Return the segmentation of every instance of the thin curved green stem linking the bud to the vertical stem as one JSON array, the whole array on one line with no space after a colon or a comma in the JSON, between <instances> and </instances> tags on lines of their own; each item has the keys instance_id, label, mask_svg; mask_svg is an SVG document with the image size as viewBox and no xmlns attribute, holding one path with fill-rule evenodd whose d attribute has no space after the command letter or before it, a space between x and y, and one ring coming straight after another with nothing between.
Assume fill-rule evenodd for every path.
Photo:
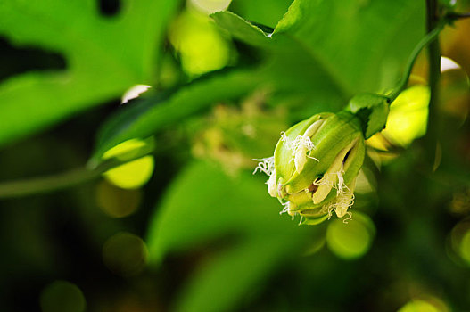
<instances>
[{"instance_id":1,"label":"thin curved green stem linking the bud to the vertical stem","mask_svg":"<svg viewBox=\"0 0 470 312\"><path fill-rule=\"evenodd\" d=\"M433 29L427 29L428 34L423 39L421 39L421 41L415 46L415 49L413 49L413 52L411 52L411 54L409 55L407 65L405 67L405 73L401 77L397 86L394 88L392 94L388 96L390 99L390 103L395 101L395 99L400 95L400 93L407 87L409 76L411 75L411 70L413 70L413 65L415 64L416 58L421 52L421 50L423 50L426 45L430 45L433 43L434 40L437 40L437 38L439 37L439 33L447 23L448 20L444 19L434 25Z\"/></svg>"}]
</instances>

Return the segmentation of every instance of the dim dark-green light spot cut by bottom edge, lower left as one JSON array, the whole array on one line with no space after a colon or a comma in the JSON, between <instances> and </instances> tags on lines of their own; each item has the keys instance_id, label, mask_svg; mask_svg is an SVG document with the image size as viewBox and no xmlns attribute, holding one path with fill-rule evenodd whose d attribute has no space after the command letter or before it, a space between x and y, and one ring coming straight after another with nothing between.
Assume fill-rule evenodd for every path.
<instances>
[{"instance_id":1,"label":"dim dark-green light spot cut by bottom edge, lower left","mask_svg":"<svg viewBox=\"0 0 470 312\"><path fill-rule=\"evenodd\" d=\"M43 312L82 312L87 306L82 291L67 281L47 285L41 292L39 302Z\"/></svg>"}]
</instances>

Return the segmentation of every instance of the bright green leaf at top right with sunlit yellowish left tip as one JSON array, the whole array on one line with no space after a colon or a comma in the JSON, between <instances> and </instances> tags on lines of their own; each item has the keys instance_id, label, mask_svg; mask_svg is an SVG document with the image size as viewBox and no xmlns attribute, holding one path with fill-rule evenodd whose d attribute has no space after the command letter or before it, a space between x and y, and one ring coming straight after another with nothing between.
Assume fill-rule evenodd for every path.
<instances>
[{"instance_id":1,"label":"bright green leaf at top right with sunlit yellowish left tip","mask_svg":"<svg viewBox=\"0 0 470 312\"><path fill-rule=\"evenodd\" d=\"M295 0L272 38L301 42L350 94L377 92L423 36L424 12L423 1Z\"/></svg>"}]
</instances>

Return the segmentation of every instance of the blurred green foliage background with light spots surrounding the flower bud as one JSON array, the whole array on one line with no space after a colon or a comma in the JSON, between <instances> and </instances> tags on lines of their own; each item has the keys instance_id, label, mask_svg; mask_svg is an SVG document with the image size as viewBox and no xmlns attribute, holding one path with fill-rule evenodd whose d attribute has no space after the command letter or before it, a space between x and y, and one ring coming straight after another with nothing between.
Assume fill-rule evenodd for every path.
<instances>
[{"instance_id":1,"label":"blurred green foliage background with light spots surrounding the flower bud","mask_svg":"<svg viewBox=\"0 0 470 312\"><path fill-rule=\"evenodd\" d=\"M425 1L3 0L0 309L470 310L469 33L441 34L427 127L418 59L367 142L349 224L298 226L252 159L390 91Z\"/></svg>"}]
</instances>

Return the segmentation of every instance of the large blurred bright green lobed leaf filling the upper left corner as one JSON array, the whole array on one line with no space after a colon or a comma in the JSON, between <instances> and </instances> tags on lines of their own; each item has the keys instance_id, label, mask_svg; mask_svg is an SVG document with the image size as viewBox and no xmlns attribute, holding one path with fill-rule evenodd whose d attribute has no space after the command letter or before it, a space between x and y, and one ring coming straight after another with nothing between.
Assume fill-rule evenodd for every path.
<instances>
[{"instance_id":1,"label":"large blurred bright green lobed leaf filling the upper left corner","mask_svg":"<svg viewBox=\"0 0 470 312\"><path fill-rule=\"evenodd\" d=\"M153 81L159 45L178 4L123 1L118 16L103 18L95 1L2 1L0 35L14 45L62 53L68 69L0 85L0 145Z\"/></svg>"}]
</instances>

